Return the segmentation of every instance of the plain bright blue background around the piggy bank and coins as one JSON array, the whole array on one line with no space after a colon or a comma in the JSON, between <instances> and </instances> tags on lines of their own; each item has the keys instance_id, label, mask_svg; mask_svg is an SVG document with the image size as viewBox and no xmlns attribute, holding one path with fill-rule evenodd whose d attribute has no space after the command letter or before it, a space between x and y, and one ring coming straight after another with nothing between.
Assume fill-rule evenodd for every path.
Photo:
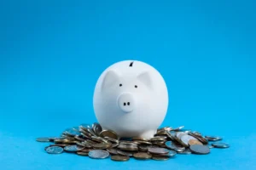
<instances>
[{"instance_id":1,"label":"plain bright blue background around the piggy bank and coins","mask_svg":"<svg viewBox=\"0 0 256 170\"><path fill-rule=\"evenodd\" d=\"M256 169L253 1L1 1L1 169ZM137 59L166 80L162 126L220 135L230 149L169 161L50 156L37 137L96 122L109 65Z\"/></svg>"}]
</instances>

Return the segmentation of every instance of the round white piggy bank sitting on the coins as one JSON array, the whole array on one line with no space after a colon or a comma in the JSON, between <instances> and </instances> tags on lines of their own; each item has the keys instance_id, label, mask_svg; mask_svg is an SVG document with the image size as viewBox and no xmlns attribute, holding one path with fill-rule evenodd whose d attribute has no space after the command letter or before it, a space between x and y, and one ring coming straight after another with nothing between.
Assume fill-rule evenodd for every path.
<instances>
[{"instance_id":1,"label":"round white piggy bank sitting on the coins","mask_svg":"<svg viewBox=\"0 0 256 170\"><path fill-rule=\"evenodd\" d=\"M166 116L166 82L151 65L120 61L98 78L93 107L102 129L123 138L151 139Z\"/></svg>"}]
</instances>

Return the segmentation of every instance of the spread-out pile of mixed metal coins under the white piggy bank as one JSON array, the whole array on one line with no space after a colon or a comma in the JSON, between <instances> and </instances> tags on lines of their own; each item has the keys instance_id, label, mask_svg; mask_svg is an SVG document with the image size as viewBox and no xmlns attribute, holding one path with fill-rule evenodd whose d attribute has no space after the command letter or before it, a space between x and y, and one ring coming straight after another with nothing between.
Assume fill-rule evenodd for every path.
<instances>
[{"instance_id":1,"label":"spread-out pile of mixed metal coins under the white piggy bank","mask_svg":"<svg viewBox=\"0 0 256 170\"><path fill-rule=\"evenodd\" d=\"M219 136L203 136L182 127L162 127L152 139L122 139L111 130L102 130L99 123L81 124L67 128L60 137L38 138L38 142L51 142L45 147L49 154L76 153L93 159L111 157L113 161L169 160L177 154L209 154L212 148L229 148L219 142ZM212 142L212 144L210 144Z\"/></svg>"}]
</instances>

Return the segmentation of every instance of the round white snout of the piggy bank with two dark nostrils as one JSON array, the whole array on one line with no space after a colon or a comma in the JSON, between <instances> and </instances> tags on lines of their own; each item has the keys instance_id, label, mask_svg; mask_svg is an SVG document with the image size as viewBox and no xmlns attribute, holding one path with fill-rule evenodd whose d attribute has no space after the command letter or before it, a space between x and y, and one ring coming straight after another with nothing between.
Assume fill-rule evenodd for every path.
<instances>
[{"instance_id":1,"label":"round white snout of the piggy bank with two dark nostrils","mask_svg":"<svg viewBox=\"0 0 256 170\"><path fill-rule=\"evenodd\" d=\"M133 95L130 93L120 94L118 98L118 105L119 109L125 113L133 111L135 108L135 100Z\"/></svg>"}]
</instances>

